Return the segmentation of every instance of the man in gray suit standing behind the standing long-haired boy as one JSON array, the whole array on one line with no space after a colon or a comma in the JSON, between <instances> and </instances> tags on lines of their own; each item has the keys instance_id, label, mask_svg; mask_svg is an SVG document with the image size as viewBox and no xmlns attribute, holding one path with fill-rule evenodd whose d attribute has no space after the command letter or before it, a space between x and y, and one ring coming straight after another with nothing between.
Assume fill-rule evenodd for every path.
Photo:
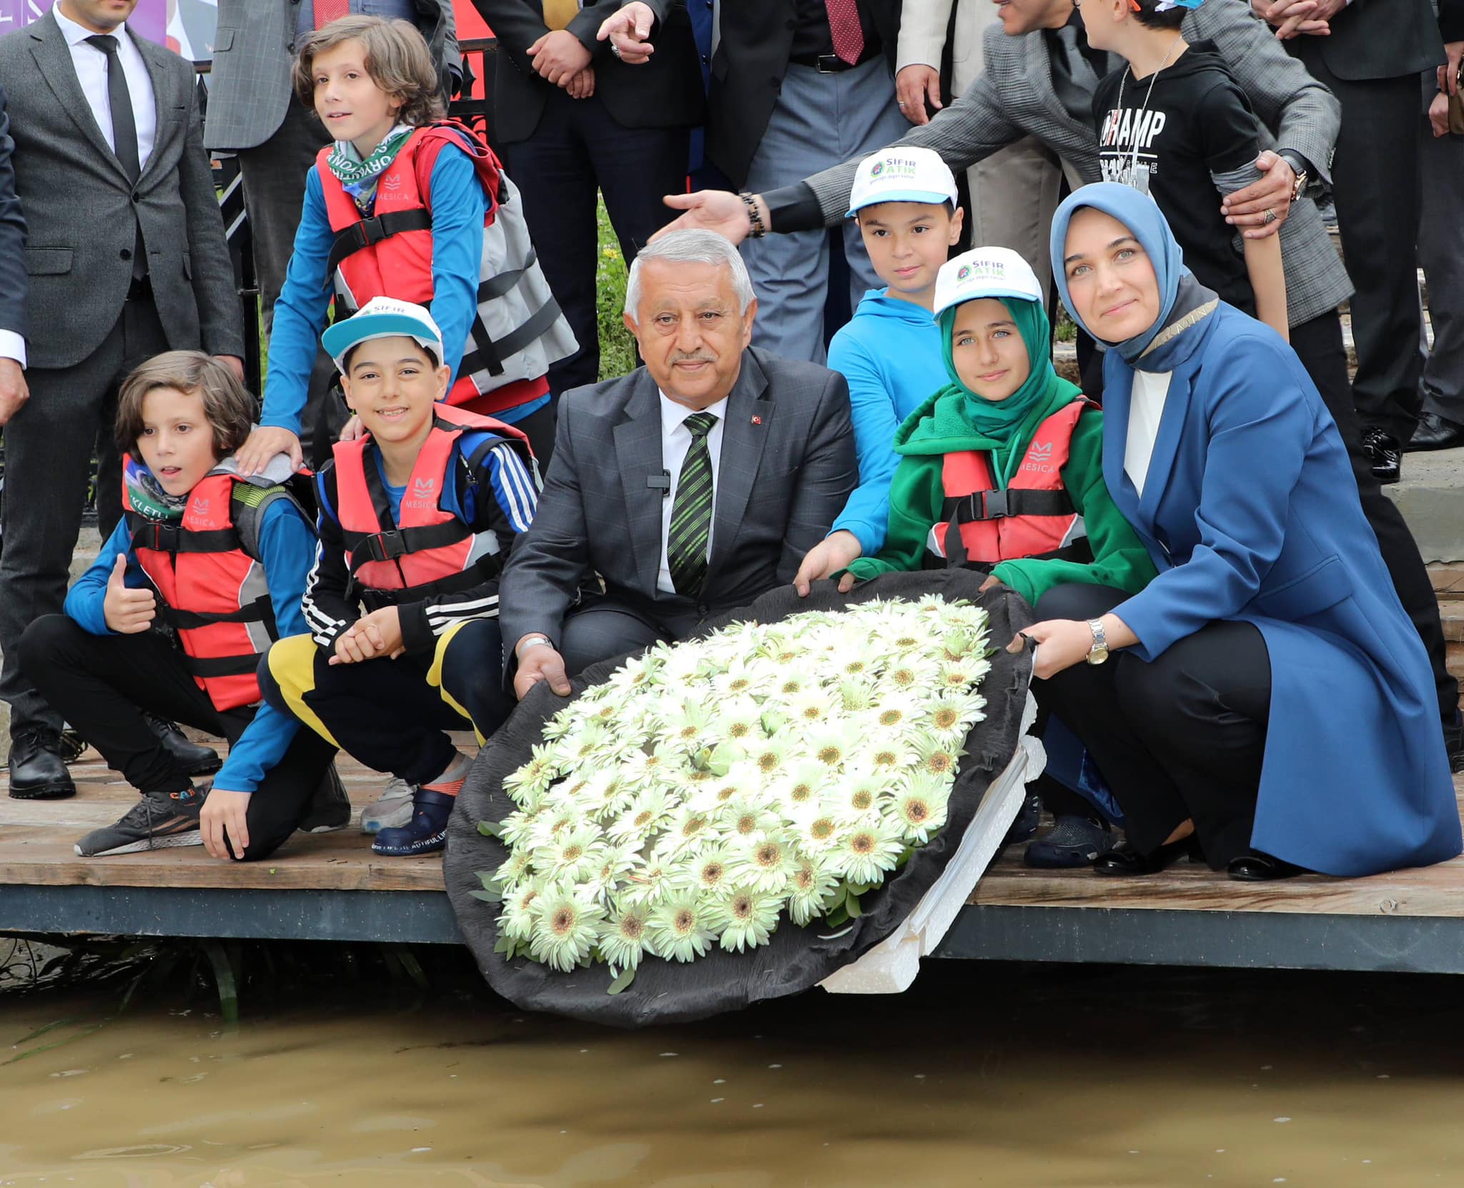
<instances>
[{"instance_id":1,"label":"man in gray suit standing behind the standing long-haired boy","mask_svg":"<svg viewBox=\"0 0 1464 1188\"><path fill-rule=\"evenodd\" d=\"M300 224L305 176L331 139L315 113L294 101L294 42L318 18L326 23L346 12L410 20L432 51L442 97L461 80L452 0L218 0L203 143L239 154L265 331Z\"/></svg>"}]
</instances>

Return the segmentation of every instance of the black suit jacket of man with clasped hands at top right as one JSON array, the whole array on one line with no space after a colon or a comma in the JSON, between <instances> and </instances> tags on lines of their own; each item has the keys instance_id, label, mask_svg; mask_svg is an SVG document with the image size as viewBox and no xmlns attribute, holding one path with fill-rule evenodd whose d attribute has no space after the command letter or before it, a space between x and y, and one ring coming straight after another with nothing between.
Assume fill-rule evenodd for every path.
<instances>
[{"instance_id":1,"label":"black suit jacket of man with clasped hands at top right","mask_svg":"<svg viewBox=\"0 0 1464 1188\"><path fill-rule=\"evenodd\" d=\"M1397 79L1444 63L1429 0L1353 0L1331 19L1328 37L1287 42L1301 61L1316 54L1340 79Z\"/></svg>"}]
</instances>

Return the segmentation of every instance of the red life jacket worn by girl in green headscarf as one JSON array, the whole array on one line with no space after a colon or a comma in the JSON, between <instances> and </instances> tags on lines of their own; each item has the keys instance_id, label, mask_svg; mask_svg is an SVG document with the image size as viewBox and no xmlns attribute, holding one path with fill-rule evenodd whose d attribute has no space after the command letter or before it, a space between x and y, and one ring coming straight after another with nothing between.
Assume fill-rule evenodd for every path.
<instances>
[{"instance_id":1,"label":"red life jacket worn by girl in green headscarf","mask_svg":"<svg viewBox=\"0 0 1464 1188\"><path fill-rule=\"evenodd\" d=\"M931 525L925 540L927 568L991 566L1019 557L1091 562L1083 518L1061 475L1073 429L1089 407L1095 405L1075 399L1044 420L1006 490L994 490L987 451L947 454L941 467L943 522ZM953 528L957 544L947 549Z\"/></svg>"}]
</instances>

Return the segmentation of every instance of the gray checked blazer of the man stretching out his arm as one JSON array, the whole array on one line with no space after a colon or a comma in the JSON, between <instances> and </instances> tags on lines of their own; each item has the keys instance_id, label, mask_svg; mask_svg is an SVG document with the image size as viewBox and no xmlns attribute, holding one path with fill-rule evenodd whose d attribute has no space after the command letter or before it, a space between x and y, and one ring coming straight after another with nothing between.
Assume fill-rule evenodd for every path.
<instances>
[{"instance_id":1,"label":"gray checked blazer of the man stretching out his arm","mask_svg":"<svg viewBox=\"0 0 1464 1188\"><path fill-rule=\"evenodd\" d=\"M1262 145L1301 154L1312 164L1313 178L1328 184L1341 107L1287 54L1250 6L1244 0L1209 0L1186 15L1183 32L1186 41L1215 42L1261 120ZM963 170L1023 136L1035 136L1083 181L1098 181L1098 132L1091 120L1072 119L1053 91L1047 40L1039 32L1007 37L993 26L982 51L985 70L971 89L899 143L935 149L952 170ZM1123 64L1117 57L1113 61ZM846 161L808 178L830 227L849 209L858 164ZM1218 199L1215 209L1218 218ZM1291 325L1337 309L1351 294L1347 271L1310 199L1299 202L1282 224L1281 252Z\"/></svg>"}]
</instances>

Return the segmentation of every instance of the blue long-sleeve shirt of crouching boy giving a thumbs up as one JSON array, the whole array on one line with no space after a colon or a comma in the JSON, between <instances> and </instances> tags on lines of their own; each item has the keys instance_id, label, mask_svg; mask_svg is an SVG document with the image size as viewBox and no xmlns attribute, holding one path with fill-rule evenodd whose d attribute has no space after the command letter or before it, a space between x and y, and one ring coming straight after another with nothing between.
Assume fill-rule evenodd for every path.
<instances>
[{"instance_id":1,"label":"blue long-sleeve shirt of crouching boy giving a thumbs up","mask_svg":"<svg viewBox=\"0 0 1464 1188\"><path fill-rule=\"evenodd\" d=\"M107 579L119 553L127 557L126 585L132 590L152 588L132 552L132 537L123 521L108 537L97 560L76 579L66 595L66 613L92 635L114 634L107 626L102 603L107 597ZM269 587L269 603L274 607L280 636L305 635L310 628L300 610L300 600L305 595L306 576L315 563L315 533L287 499L277 499L265 508L259 521L259 559L265 568L265 584ZM284 758L299 729L300 724L288 714L281 714L268 702L261 704L253 721L228 749L223 770L214 777L214 787L224 792L258 789L265 772Z\"/></svg>"}]
</instances>

